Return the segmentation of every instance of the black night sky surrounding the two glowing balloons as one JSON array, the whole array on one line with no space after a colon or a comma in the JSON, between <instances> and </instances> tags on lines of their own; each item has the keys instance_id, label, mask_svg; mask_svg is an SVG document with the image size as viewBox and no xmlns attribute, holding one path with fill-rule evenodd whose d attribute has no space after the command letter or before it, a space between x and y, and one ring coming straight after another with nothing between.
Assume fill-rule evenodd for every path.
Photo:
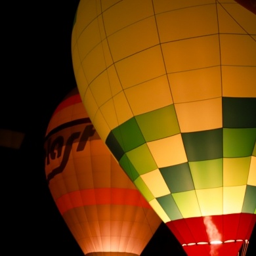
<instances>
[{"instance_id":1,"label":"black night sky surrounding the two glowing balloons","mask_svg":"<svg viewBox=\"0 0 256 256\"><path fill-rule=\"evenodd\" d=\"M0 255L82 256L45 179L43 142L51 115L75 85L71 33L79 0L5 1L1 30L0 129L24 133L0 146ZM247 256L256 248L255 230ZM141 256L186 255L161 224Z\"/></svg>"}]
</instances>

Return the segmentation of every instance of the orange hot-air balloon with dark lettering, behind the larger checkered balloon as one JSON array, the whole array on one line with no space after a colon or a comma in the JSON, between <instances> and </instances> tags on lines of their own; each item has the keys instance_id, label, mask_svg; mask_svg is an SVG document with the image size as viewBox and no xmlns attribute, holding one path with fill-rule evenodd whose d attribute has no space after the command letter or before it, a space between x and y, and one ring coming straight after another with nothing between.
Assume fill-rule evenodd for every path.
<instances>
[{"instance_id":1,"label":"orange hot-air balloon with dark lettering, behind the larger checkered balloon","mask_svg":"<svg viewBox=\"0 0 256 256\"><path fill-rule=\"evenodd\" d=\"M45 152L49 189L83 253L140 255L161 219L98 137L76 88L51 117Z\"/></svg>"}]
</instances>

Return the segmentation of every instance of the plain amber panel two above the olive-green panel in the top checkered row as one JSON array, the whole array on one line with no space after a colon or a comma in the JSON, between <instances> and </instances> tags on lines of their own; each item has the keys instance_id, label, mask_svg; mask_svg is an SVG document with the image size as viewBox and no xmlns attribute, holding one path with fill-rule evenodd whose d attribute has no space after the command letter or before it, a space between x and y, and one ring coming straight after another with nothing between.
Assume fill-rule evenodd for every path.
<instances>
[{"instance_id":1,"label":"plain amber panel two above the olive-green panel in the top checkered row","mask_svg":"<svg viewBox=\"0 0 256 256\"><path fill-rule=\"evenodd\" d=\"M117 62L116 70L123 89L164 75L161 47L157 45Z\"/></svg>"}]
</instances>

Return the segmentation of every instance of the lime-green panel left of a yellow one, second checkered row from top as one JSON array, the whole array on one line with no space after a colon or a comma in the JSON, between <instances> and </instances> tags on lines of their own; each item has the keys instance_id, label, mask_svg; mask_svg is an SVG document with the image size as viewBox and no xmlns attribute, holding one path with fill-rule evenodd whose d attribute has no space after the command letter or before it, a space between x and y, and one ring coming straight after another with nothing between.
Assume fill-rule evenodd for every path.
<instances>
[{"instance_id":1,"label":"lime-green panel left of a yellow one, second checkered row from top","mask_svg":"<svg viewBox=\"0 0 256 256\"><path fill-rule=\"evenodd\" d=\"M139 175L158 169L147 144L143 144L142 146L127 152L127 158L133 163L133 166Z\"/></svg>"}]
</instances>

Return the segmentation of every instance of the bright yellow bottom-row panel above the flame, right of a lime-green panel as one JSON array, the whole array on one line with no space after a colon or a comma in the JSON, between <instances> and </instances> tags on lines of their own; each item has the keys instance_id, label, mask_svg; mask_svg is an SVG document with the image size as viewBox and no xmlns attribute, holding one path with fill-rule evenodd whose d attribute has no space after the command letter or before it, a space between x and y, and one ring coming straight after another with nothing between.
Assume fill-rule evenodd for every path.
<instances>
[{"instance_id":1,"label":"bright yellow bottom-row panel above the flame, right of a lime-green panel","mask_svg":"<svg viewBox=\"0 0 256 256\"><path fill-rule=\"evenodd\" d=\"M223 188L196 190L202 216L223 215Z\"/></svg>"}]
</instances>

